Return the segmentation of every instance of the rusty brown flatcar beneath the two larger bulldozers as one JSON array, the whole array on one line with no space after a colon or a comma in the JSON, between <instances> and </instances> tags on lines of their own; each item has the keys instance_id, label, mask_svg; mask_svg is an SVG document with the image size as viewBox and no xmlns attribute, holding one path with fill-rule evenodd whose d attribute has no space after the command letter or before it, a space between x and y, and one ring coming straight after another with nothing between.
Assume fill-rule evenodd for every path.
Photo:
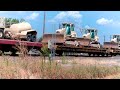
<instances>
[{"instance_id":1,"label":"rusty brown flatcar beneath the two larger bulldozers","mask_svg":"<svg viewBox=\"0 0 120 90\"><path fill-rule=\"evenodd\" d=\"M56 53L62 55L63 53L87 53L89 56L112 56L113 50L105 48L94 48L94 47L76 47L76 46L63 46L59 45L56 48ZM76 55L76 54L75 54Z\"/></svg>"}]
</instances>

